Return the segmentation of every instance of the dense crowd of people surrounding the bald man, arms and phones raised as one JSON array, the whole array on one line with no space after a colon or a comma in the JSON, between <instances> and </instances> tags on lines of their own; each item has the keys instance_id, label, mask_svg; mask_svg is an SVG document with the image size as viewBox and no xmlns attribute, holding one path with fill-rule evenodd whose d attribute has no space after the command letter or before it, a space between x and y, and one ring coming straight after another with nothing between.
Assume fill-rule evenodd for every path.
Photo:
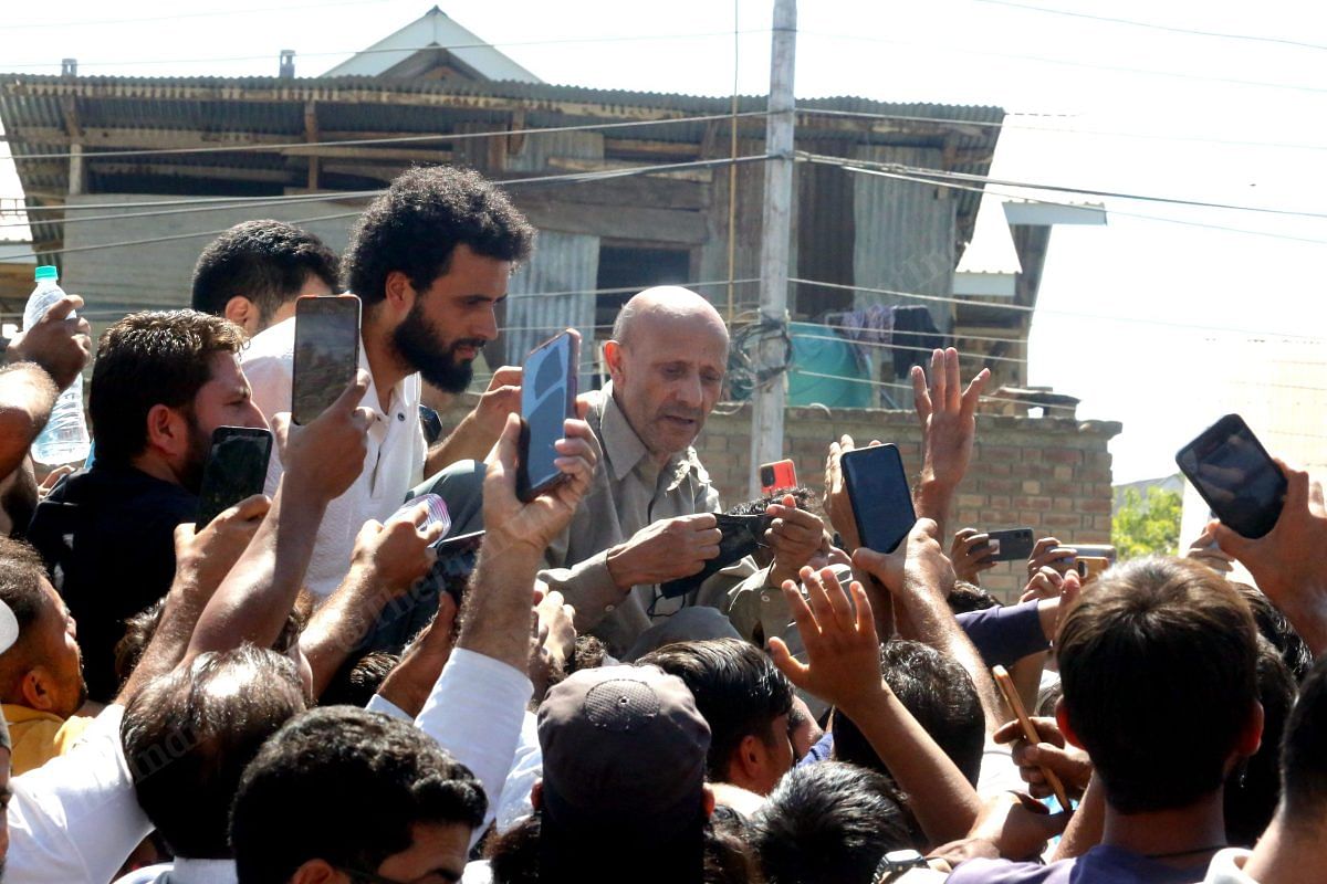
<instances>
[{"instance_id":1,"label":"dense crowd of people surrounding the bald man, arms and phones raised","mask_svg":"<svg viewBox=\"0 0 1327 884\"><path fill-rule=\"evenodd\" d=\"M951 524L989 372L965 384L951 349L912 368L918 518L872 550L847 436L823 493L721 502L693 444L729 330L670 286L621 309L563 481L525 501L519 368L450 432L426 403L471 384L533 248L498 187L418 168L340 258L249 221L202 253L192 309L127 315L93 354L68 296L8 342L5 881L1327 880L1307 474L1283 467L1262 538L1214 522L1091 582L1072 538L1040 538L1001 604L983 535ZM296 425L295 304L337 292L362 306L358 371ZM33 464L89 362L94 463ZM202 525L218 427L276 449L267 493ZM426 492L449 529L401 512ZM707 569L726 506L770 527ZM431 577L445 530L484 531L462 591Z\"/></svg>"}]
</instances>

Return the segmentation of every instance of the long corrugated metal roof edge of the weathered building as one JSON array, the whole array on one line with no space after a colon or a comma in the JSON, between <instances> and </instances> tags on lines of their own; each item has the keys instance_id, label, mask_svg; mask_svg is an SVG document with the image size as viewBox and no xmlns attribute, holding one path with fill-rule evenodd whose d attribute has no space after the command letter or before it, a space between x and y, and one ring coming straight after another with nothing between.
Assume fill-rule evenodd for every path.
<instances>
[{"instance_id":1,"label":"long corrugated metal roof edge of the weathered building","mask_svg":"<svg viewBox=\"0 0 1327 884\"><path fill-rule=\"evenodd\" d=\"M322 133L341 137L354 133L435 134L467 123L474 130L506 129L511 113L520 110L525 127L553 127L634 118L722 115L731 111L731 98L670 93L591 89L516 81L453 82L387 80L373 77L60 77L0 74L0 122L17 154L61 154L62 146L24 139L31 129L65 130L62 101L73 98L85 130L139 129L184 130L232 135L245 134L304 138L304 109L317 102ZM742 95L738 110L762 111L764 95ZM867 98L833 97L799 102L800 110L833 110L877 114L898 121L805 114L799 133L824 142L849 144L943 147L951 168L985 175L995 151L1005 111L989 106L889 103ZM936 121L936 122L928 122ZM955 122L957 121L957 122ZM746 137L759 137L763 121L743 122ZM885 129L888 131L880 131ZM642 139L699 144L706 123L677 123L609 130L613 139ZM125 144L106 143L106 148ZM92 155L96 147L88 148ZM845 144L845 151L851 148ZM154 163L169 166L215 166L232 168L280 168L273 155L255 154L163 155ZM68 160L20 162L19 175L28 193L62 193L68 190ZM978 193L958 197L958 237L971 236ZM40 224L38 241L58 239L58 224Z\"/></svg>"}]
</instances>

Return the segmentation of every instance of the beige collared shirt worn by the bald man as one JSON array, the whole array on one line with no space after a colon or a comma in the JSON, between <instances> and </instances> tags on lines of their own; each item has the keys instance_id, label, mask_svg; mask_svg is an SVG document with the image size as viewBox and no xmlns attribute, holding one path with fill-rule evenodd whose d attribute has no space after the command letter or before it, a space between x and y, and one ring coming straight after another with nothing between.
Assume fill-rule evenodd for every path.
<instances>
[{"instance_id":1,"label":"beige collared shirt worn by the bald man","mask_svg":"<svg viewBox=\"0 0 1327 884\"><path fill-rule=\"evenodd\" d=\"M612 383L598 391L588 421L604 459L572 524L548 549L549 567L539 577L576 606L576 627L598 636L616 656L652 623L695 604L698 595L711 595L710 582L723 575L686 598L665 599L657 584L624 592L608 573L608 551L652 522L719 512L719 493L694 448L674 455L662 469L654 463L613 400Z\"/></svg>"}]
</instances>

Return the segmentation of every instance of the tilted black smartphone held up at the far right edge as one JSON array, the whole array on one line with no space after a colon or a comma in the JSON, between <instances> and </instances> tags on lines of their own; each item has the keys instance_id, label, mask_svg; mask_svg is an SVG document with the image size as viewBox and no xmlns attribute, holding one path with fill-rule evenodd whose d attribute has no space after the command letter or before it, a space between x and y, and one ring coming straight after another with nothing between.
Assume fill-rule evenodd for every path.
<instances>
[{"instance_id":1,"label":"tilted black smartphone held up at the far right edge","mask_svg":"<svg viewBox=\"0 0 1327 884\"><path fill-rule=\"evenodd\" d=\"M1239 415L1226 415L1174 456L1222 524L1262 537L1281 518L1286 474Z\"/></svg>"}]
</instances>

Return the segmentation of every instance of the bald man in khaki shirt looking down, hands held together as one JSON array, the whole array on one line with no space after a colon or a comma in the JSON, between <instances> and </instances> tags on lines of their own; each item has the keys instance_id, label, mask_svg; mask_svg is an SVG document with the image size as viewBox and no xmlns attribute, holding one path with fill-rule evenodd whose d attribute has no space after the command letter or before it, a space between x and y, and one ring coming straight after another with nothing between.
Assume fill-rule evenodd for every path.
<instances>
[{"instance_id":1,"label":"bald man in khaki shirt looking down, hands held together","mask_svg":"<svg viewBox=\"0 0 1327 884\"><path fill-rule=\"evenodd\" d=\"M718 311L675 286L633 297L605 346L612 382L592 394L587 417L604 457L540 578L576 607L577 630L602 639L614 655L683 606L727 612L736 584L776 586L820 550L820 520L780 506L768 569L747 559L686 596L665 599L658 591L660 583L699 573L719 553L719 496L691 443L723 390L727 353Z\"/></svg>"}]
</instances>

